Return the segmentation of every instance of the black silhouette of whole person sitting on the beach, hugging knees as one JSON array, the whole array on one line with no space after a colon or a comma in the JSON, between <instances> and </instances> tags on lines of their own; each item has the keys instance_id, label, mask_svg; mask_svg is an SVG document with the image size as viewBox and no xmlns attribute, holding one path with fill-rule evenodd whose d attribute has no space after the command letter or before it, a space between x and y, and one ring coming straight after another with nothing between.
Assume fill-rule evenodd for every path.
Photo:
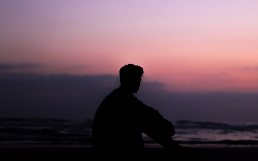
<instances>
[{"instance_id":1,"label":"black silhouette of whole person sitting on the beach, hugging knees","mask_svg":"<svg viewBox=\"0 0 258 161\"><path fill-rule=\"evenodd\" d=\"M143 154L142 132L166 149L182 147L171 138L173 124L132 94L138 91L143 73L133 64L120 69L120 87L102 101L93 120L92 149L96 155Z\"/></svg>"}]
</instances>

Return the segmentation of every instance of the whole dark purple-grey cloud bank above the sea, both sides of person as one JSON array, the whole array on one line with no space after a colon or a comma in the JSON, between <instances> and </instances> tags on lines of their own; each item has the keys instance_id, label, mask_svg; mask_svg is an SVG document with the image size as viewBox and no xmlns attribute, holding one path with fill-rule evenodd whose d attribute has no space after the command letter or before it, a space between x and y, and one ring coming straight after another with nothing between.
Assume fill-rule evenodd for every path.
<instances>
[{"instance_id":1,"label":"whole dark purple-grey cloud bank above the sea, both sides of person","mask_svg":"<svg viewBox=\"0 0 258 161\"><path fill-rule=\"evenodd\" d=\"M0 117L92 119L119 85L118 75L0 73ZM170 92L143 81L134 95L170 121L258 121L258 93Z\"/></svg>"}]
</instances>

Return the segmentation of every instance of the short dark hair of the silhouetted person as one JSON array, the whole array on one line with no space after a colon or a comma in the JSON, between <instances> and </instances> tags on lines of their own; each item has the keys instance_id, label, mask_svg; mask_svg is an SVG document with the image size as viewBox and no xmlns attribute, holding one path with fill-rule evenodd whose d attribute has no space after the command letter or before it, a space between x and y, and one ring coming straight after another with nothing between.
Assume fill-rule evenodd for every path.
<instances>
[{"instance_id":1,"label":"short dark hair of the silhouetted person","mask_svg":"<svg viewBox=\"0 0 258 161\"><path fill-rule=\"evenodd\" d=\"M134 64L127 64L119 70L120 82L138 75L142 76L143 73L142 67Z\"/></svg>"}]
</instances>

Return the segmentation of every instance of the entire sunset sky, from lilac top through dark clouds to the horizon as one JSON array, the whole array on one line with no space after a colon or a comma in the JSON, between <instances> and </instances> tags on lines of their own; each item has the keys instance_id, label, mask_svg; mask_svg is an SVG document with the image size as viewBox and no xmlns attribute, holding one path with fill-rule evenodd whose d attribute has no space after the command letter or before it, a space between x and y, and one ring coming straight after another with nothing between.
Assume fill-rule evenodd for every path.
<instances>
[{"instance_id":1,"label":"entire sunset sky, from lilac top through dark clouds to the horizon","mask_svg":"<svg viewBox=\"0 0 258 161\"><path fill-rule=\"evenodd\" d=\"M163 100L158 110L167 117L258 121L257 0L0 1L0 23L0 117L66 117L74 105L62 102L62 115L52 101L72 98L78 114L93 118L119 86L119 69L132 63L144 70L137 97L149 106ZM14 98L27 111L14 114Z\"/></svg>"}]
</instances>

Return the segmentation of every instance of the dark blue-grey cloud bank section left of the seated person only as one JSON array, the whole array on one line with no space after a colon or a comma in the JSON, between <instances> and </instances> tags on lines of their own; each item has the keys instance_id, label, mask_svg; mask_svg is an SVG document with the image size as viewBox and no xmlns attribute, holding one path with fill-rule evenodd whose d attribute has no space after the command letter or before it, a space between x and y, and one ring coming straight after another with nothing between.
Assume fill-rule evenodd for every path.
<instances>
[{"instance_id":1,"label":"dark blue-grey cloud bank section left of the seated person only","mask_svg":"<svg viewBox=\"0 0 258 161\"><path fill-rule=\"evenodd\" d=\"M112 75L0 75L0 117L92 118L119 81Z\"/></svg>"}]
</instances>

